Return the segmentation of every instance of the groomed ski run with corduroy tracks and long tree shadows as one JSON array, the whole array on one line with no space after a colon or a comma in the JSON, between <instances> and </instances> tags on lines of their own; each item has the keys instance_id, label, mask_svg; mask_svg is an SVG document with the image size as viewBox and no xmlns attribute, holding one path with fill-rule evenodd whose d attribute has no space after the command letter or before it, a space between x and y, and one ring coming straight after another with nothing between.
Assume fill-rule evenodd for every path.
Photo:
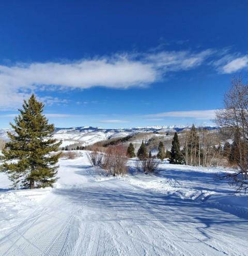
<instances>
[{"instance_id":1,"label":"groomed ski run with corduroy tracks and long tree shadows","mask_svg":"<svg viewBox=\"0 0 248 256\"><path fill-rule=\"evenodd\" d=\"M72 163L63 169L84 182L60 184L31 214L24 211L0 239L0 256L248 255L247 232L237 232L247 220L121 179L99 181Z\"/></svg>"}]
</instances>

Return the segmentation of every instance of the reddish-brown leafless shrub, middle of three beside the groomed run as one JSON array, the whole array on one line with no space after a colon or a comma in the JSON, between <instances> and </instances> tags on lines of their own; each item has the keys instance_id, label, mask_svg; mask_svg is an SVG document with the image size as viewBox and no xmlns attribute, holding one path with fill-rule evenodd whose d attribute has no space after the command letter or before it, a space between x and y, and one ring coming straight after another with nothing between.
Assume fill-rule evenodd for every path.
<instances>
[{"instance_id":1,"label":"reddish-brown leafless shrub, middle of three beside the groomed run","mask_svg":"<svg viewBox=\"0 0 248 256\"><path fill-rule=\"evenodd\" d=\"M113 146L108 147L104 154L103 168L107 174L110 175L123 175L127 173L127 157L126 147Z\"/></svg>"}]
</instances>

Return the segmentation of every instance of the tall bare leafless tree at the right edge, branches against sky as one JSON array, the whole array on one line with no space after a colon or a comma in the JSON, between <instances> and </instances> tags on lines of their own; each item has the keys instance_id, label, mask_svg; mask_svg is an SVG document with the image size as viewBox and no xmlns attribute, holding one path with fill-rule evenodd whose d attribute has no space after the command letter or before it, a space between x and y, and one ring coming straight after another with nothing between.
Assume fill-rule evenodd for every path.
<instances>
[{"instance_id":1,"label":"tall bare leafless tree at the right edge, branches against sky","mask_svg":"<svg viewBox=\"0 0 248 256\"><path fill-rule=\"evenodd\" d=\"M237 136L239 154L236 162L238 168L235 173L227 174L223 178L236 184L237 190L248 189L248 85L242 77L232 79L232 86L224 97L224 109L216 111L215 123L229 130L232 137Z\"/></svg>"}]
</instances>

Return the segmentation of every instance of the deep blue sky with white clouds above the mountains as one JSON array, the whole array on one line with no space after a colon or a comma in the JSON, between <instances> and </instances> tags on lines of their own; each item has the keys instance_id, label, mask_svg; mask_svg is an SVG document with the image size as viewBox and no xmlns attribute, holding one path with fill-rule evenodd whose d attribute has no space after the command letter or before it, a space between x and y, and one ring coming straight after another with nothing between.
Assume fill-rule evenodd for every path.
<instances>
[{"instance_id":1,"label":"deep blue sky with white clouds above the mountains","mask_svg":"<svg viewBox=\"0 0 248 256\"><path fill-rule=\"evenodd\" d=\"M0 2L0 127L208 124L247 74L247 1Z\"/></svg>"}]
</instances>

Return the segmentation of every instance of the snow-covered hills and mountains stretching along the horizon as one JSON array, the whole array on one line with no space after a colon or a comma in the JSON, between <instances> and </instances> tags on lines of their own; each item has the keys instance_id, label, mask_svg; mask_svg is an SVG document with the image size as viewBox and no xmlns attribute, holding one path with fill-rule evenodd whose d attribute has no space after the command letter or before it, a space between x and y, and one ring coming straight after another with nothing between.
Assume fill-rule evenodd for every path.
<instances>
[{"instance_id":1,"label":"snow-covered hills and mountains stretching along the horizon","mask_svg":"<svg viewBox=\"0 0 248 256\"><path fill-rule=\"evenodd\" d=\"M205 127L208 130L214 130L216 126L200 126ZM147 126L147 127L135 127L135 128L123 128L123 129L103 129L101 127L71 127L71 128L56 128L54 132L54 138L62 140L61 146L67 146L72 144L80 143L82 145L94 144L98 141L126 137L128 135L138 134L138 133L173 133L180 132L183 130L188 130L188 126ZM12 129L0 129L0 138L3 140L8 140L7 132L13 131Z\"/></svg>"}]
</instances>

